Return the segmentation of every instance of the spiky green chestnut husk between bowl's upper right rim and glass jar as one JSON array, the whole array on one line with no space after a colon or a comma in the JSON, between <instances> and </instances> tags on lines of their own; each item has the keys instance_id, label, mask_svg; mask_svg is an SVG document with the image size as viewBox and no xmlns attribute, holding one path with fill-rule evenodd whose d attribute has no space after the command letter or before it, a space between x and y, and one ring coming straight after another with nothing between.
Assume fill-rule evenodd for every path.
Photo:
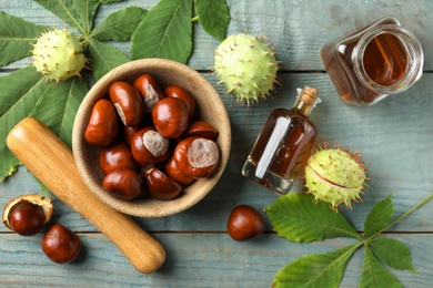
<instances>
[{"instance_id":1,"label":"spiky green chestnut husk between bowl's upper right rim and glass jar","mask_svg":"<svg viewBox=\"0 0 433 288\"><path fill-rule=\"evenodd\" d=\"M228 37L215 51L214 72L225 93L248 104L269 96L274 89L279 64L263 38L239 33Z\"/></svg>"}]
</instances>

